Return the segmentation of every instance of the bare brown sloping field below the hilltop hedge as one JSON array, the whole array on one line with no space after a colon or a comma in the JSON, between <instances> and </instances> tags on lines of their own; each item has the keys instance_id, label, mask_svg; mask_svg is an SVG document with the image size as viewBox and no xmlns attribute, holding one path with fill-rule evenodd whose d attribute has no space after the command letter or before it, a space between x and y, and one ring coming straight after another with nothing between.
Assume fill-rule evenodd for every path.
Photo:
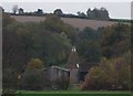
<instances>
[{"instance_id":1,"label":"bare brown sloping field below the hilltop hedge","mask_svg":"<svg viewBox=\"0 0 133 96\"><path fill-rule=\"evenodd\" d=\"M40 22L43 21L44 17L27 17L27 15L11 15L19 22ZM109 26L115 24L113 21L98 21L98 20L85 20L85 19L74 19L74 18L62 18L64 23L73 25L74 28L79 28L83 30L85 26L90 26L92 29L98 29L100 26Z\"/></svg>"}]
</instances>

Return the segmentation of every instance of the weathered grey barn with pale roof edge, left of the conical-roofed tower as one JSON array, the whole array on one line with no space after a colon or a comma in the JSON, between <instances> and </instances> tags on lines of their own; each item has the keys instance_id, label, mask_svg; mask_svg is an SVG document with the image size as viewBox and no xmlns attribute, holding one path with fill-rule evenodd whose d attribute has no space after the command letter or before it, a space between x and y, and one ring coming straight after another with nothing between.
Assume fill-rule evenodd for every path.
<instances>
[{"instance_id":1,"label":"weathered grey barn with pale roof edge, left of the conical-roofed tower","mask_svg":"<svg viewBox=\"0 0 133 96\"><path fill-rule=\"evenodd\" d=\"M49 67L48 73L53 89L68 89L70 78L69 70L59 66L51 66Z\"/></svg>"}]
</instances>

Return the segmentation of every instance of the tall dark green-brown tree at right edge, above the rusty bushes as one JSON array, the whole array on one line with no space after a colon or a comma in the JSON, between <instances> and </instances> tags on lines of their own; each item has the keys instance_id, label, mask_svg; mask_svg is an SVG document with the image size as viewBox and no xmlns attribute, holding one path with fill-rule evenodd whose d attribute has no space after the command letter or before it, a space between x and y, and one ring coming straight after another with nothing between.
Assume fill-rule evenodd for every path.
<instances>
[{"instance_id":1,"label":"tall dark green-brown tree at right edge, above the rusty bushes","mask_svg":"<svg viewBox=\"0 0 133 96\"><path fill-rule=\"evenodd\" d=\"M102 53L105 57L116 57L127 52L131 46L131 26L115 24L105 28L102 34ZM121 47L121 49L120 49Z\"/></svg>"}]
</instances>

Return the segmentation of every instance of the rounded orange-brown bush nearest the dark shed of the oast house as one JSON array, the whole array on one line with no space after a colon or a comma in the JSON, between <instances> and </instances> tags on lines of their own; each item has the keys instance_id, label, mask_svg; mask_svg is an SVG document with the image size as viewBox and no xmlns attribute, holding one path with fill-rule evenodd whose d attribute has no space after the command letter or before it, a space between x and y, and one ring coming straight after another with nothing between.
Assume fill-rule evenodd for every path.
<instances>
[{"instance_id":1,"label":"rounded orange-brown bush nearest the dark shed of the oast house","mask_svg":"<svg viewBox=\"0 0 133 96\"><path fill-rule=\"evenodd\" d=\"M108 75L101 67L92 67L85 77L82 89L104 89L106 78Z\"/></svg>"}]
</instances>

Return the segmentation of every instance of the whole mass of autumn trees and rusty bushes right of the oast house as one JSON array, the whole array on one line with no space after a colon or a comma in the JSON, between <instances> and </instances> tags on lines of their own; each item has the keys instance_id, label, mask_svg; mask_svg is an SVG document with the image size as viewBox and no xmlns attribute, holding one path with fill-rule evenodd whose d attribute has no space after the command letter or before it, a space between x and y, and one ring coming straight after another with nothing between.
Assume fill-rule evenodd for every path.
<instances>
[{"instance_id":1,"label":"whole mass of autumn trees and rusty bushes right of the oast house","mask_svg":"<svg viewBox=\"0 0 133 96\"><path fill-rule=\"evenodd\" d=\"M101 62L89 71L82 89L131 89L131 26L108 26L99 41Z\"/></svg>"}]
</instances>

